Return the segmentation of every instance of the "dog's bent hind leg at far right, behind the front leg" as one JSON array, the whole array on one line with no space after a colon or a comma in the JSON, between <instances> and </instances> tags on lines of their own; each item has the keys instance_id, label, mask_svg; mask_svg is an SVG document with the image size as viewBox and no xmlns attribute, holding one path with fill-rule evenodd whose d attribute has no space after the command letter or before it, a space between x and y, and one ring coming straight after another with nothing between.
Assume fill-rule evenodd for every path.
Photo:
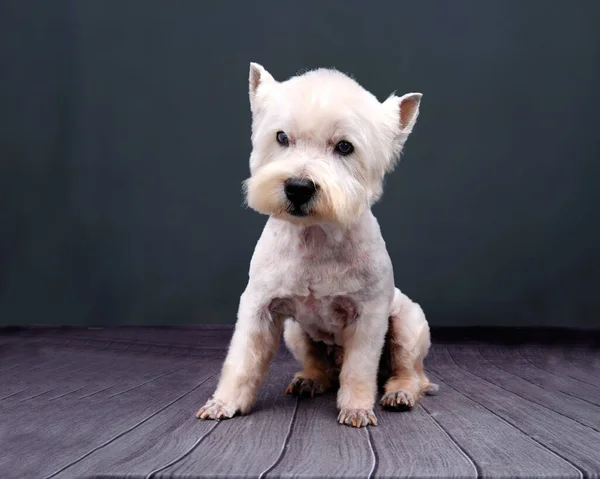
<instances>
[{"instance_id":1,"label":"dog's bent hind leg at far right, behind the front leg","mask_svg":"<svg viewBox=\"0 0 600 479\"><path fill-rule=\"evenodd\" d=\"M423 360L429 352L429 324L421 307L396 289L390 314L388 350L391 377L385 384L381 405L411 409L423 394L433 394L438 386L429 381Z\"/></svg>"}]
</instances>

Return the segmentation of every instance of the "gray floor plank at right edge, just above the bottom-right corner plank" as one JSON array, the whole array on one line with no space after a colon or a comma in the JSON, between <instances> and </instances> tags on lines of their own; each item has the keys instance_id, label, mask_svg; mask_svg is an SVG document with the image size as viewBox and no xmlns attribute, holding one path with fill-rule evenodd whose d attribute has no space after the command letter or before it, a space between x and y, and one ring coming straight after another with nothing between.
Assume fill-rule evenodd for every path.
<instances>
[{"instance_id":1,"label":"gray floor plank at right edge, just above the bottom-right corner plank","mask_svg":"<svg viewBox=\"0 0 600 479\"><path fill-rule=\"evenodd\" d=\"M457 365L523 399L547 407L600 432L600 407L552 388L543 388L510 371L510 366L485 358L479 348L449 348Z\"/></svg>"}]
</instances>

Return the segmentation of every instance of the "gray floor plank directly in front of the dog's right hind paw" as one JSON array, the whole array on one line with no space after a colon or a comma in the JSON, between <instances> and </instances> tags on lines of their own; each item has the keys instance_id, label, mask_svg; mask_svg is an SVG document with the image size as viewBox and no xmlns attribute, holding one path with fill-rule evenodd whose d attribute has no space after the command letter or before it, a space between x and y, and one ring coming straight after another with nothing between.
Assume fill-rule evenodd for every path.
<instances>
[{"instance_id":1,"label":"gray floor plank directly in front of the dog's right hind paw","mask_svg":"<svg viewBox=\"0 0 600 479\"><path fill-rule=\"evenodd\" d=\"M410 412L377 408L372 428L377 456L374 477L477 477L477 467L422 407ZM439 412L438 412L439 414Z\"/></svg>"}]
</instances>

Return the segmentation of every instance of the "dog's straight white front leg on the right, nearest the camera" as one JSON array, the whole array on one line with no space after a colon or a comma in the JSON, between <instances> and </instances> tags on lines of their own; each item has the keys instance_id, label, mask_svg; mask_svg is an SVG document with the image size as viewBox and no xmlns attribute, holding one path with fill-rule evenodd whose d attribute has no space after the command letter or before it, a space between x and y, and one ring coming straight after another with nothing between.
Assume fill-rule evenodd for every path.
<instances>
[{"instance_id":1,"label":"dog's straight white front leg on the right, nearest the camera","mask_svg":"<svg viewBox=\"0 0 600 479\"><path fill-rule=\"evenodd\" d=\"M340 424L354 427L377 425L373 406L388 315L387 305L368 305L344 330L344 362L337 397Z\"/></svg>"}]
</instances>

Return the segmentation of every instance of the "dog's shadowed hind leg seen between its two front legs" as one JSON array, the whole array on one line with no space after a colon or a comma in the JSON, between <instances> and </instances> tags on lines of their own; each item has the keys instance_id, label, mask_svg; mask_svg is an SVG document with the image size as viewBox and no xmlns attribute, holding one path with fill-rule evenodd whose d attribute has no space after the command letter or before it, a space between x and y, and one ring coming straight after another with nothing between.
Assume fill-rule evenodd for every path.
<instances>
[{"instance_id":1,"label":"dog's shadowed hind leg seen between its two front legs","mask_svg":"<svg viewBox=\"0 0 600 479\"><path fill-rule=\"evenodd\" d=\"M333 374L323 348L310 339L293 319L285 320L283 339L303 368L296 373L285 394L314 396L330 389Z\"/></svg>"}]
</instances>

